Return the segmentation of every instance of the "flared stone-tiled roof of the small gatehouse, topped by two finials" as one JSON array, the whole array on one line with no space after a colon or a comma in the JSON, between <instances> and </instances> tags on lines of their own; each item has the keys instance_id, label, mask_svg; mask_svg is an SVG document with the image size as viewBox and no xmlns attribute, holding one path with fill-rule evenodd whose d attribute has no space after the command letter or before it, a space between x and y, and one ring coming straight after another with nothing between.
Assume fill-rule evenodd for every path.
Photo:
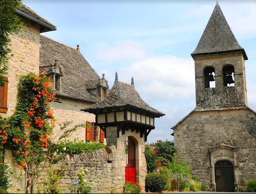
<instances>
[{"instance_id":1,"label":"flared stone-tiled roof of the small gatehouse, topped by two finials","mask_svg":"<svg viewBox=\"0 0 256 194\"><path fill-rule=\"evenodd\" d=\"M106 99L94 104L87 109L84 109L83 111L93 112L96 109L120 106L132 106L140 110L143 109L145 112L150 112L154 115L157 115L157 117L165 115L162 112L159 112L156 109L150 107L138 94L134 85L119 81L114 82L114 85Z\"/></svg>"}]
</instances>

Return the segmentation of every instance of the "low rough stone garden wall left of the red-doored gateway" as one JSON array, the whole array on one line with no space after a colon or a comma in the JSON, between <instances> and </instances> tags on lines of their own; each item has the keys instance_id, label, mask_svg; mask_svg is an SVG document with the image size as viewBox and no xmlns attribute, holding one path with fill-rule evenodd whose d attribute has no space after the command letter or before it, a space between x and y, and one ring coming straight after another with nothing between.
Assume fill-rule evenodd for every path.
<instances>
[{"instance_id":1,"label":"low rough stone garden wall left of the red-doored gateway","mask_svg":"<svg viewBox=\"0 0 256 194\"><path fill-rule=\"evenodd\" d=\"M122 193L124 182L121 170L119 170L118 163L114 160L115 147L105 147L91 153L82 153L77 155L67 154L58 164L52 165L55 170L63 170L65 175L60 181L60 189L63 193L71 193L74 189L72 182L78 178L77 173L80 168L88 169L87 183L95 182L91 193ZM38 193L40 191L40 184L48 178L48 170L50 165L42 171L36 185L39 185Z\"/></svg>"}]
</instances>

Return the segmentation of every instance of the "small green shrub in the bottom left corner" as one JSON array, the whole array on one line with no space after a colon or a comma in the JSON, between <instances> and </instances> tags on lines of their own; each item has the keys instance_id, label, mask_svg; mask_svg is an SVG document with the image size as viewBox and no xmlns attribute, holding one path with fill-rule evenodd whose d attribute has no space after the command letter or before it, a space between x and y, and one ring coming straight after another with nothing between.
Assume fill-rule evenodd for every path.
<instances>
[{"instance_id":1,"label":"small green shrub in the bottom left corner","mask_svg":"<svg viewBox=\"0 0 256 194\"><path fill-rule=\"evenodd\" d=\"M0 193L6 194L7 189L11 187L9 184L10 171L8 165L0 164Z\"/></svg>"}]
</instances>

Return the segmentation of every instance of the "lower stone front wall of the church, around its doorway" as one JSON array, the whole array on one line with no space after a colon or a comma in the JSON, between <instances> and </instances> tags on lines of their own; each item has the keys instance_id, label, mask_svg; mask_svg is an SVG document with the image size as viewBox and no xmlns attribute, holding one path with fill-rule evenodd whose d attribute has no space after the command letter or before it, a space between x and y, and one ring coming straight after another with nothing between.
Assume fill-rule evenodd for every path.
<instances>
[{"instance_id":1,"label":"lower stone front wall of the church, around its doorway","mask_svg":"<svg viewBox=\"0 0 256 194\"><path fill-rule=\"evenodd\" d=\"M192 167L200 182L210 187L210 148L225 144L236 147L238 184L256 179L256 113L249 108L192 112L174 128L178 156ZM225 153L225 152L224 152ZM227 152L226 152L227 153ZM221 157L220 157L221 158Z\"/></svg>"}]
</instances>

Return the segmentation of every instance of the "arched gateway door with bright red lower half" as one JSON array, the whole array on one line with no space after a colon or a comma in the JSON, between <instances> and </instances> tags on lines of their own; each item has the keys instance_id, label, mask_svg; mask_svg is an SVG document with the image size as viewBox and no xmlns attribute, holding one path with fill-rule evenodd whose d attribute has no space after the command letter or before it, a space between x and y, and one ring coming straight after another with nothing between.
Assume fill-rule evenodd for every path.
<instances>
[{"instance_id":1,"label":"arched gateway door with bright red lower half","mask_svg":"<svg viewBox=\"0 0 256 194\"><path fill-rule=\"evenodd\" d=\"M125 141L125 182L136 182L136 143L133 137L129 136Z\"/></svg>"}]
</instances>

